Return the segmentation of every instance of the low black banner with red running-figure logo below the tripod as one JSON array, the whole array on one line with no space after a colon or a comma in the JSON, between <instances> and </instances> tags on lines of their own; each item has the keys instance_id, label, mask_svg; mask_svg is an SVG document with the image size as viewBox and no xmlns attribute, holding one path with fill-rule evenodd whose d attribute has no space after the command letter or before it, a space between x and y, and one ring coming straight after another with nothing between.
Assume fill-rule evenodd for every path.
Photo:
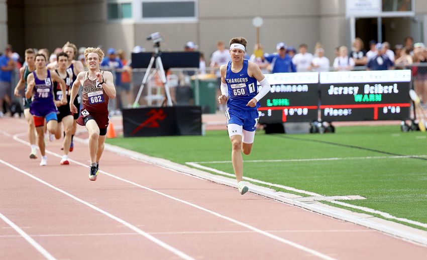
<instances>
[{"instance_id":1,"label":"low black banner with red running-figure logo below the tripod","mask_svg":"<svg viewBox=\"0 0 427 260\"><path fill-rule=\"evenodd\" d=\"M123 109L125 137L201 135L200 106Z\"/></svg>"}]
</instances>

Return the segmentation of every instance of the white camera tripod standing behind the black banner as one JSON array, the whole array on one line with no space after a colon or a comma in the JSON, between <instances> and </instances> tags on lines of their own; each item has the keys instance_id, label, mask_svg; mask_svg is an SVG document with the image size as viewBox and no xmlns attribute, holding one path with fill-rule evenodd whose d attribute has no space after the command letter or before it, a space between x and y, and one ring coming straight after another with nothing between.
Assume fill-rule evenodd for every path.
<instances>
[{"instance_id":1,"label":"white camera tripod standing behind the black banner","mask_svg":"<svg viewBox=\"0 0 427 260\"><path fill-rule=\"evenodd\" d=\"M137 98L135 99L135 102L133 104L133 108L136 108L138 106L138 101L141 97L142 91L144 89L145 84L147 84L148 81L156 74L159 73L160 80L162 81L163 85L165 86L165 100L163 101L163 104L166 102L167 106L172 106L172 99L170 98L170 92L169 92L169 86L166 81L166 74L165 70L163 69L163 63L162 59L160 58L161 52L160 52L160 42L157 42L154 44L154 53L151 57L150 64L148 65L147 71L145 72L144 78L142 79L141 87L139 88ZM155 63L155 68L153 69L153 72L150 73L151 69L153 68L153 65Z\"/></svg>"}]
</instances>

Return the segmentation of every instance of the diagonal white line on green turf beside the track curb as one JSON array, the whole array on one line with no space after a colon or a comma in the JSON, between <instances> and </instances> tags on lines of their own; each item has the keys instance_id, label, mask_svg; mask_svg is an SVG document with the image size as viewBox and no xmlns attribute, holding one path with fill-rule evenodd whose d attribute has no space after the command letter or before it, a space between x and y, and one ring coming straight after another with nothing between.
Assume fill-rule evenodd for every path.
<instances>
[{"instance_id":1,"label":"diagonal white line on green turf beside the track curb","mask_svg":"<svg viewBox=\"0 0 427 260\"><path fill-rule=\"evenodd\" d=\"M221 174L221 175L235 177L234 174L230 174L228 172L224 172L224 171L220 171L220 170L217 170L217 169L214 169L214 168L210 168L210 167L206 167L206 166L203 166L203 165L199 165L197 163L191 163L190 162L190 163L187 163L187 164L191 165L191 166L194 166L196 168L200 168L200 169L203 169L203 170L208 170L208 171L215 172L215 173L218 173L218 174ZM266 181L262 181L262 180L257 180L257 179L253 179L253 178L249 178L249 177L243 177L243 179L251 181L251 182L255 182L255 183L260 183L260 184L264 184L264 185L268 185L268 186L272 186L272 187L277 187L277 188L282 188L282 189L286 189L286 190L289 190L289 191L298 192L298 193L301 193L301 194L307 194L307 195L311 195L311 196L323 196L322 194L317 194L317 193L314 193L314 192L311 192L311 191L306 191L306 190L302 190L302 189L296 189L296 188L292 188L292 187L288 187L288 186L284 186L284 185L280 185L280 184L275 184L275 183L270 183L270 182L266 182ZM375 213L375 214L381 215L381 216L383 216L385 218L394 219L394 220L398 220L398 221L402 221L402 222L405 222L405 223L409 223L409 224L413 224L413 225L417 225L417 226L421 226L421 227L427 228L427 224L426 223L418 222L418 221L415 221L415 220L410 220L410 219L403 218L403 217L396 217L396 216L391 215L390 213L379 211L379 210L376 210L376 209L362 207L362 206L356 206L356 205L353 205L353 204L349 204L349 203L341 202L341 201L336 201L336 200L331 200L329 202L335 203L335 204L338 204L338 205L342 205L342 206L346 206L346 207L349 207L349 208L363 210L363 211L369 212L369 213Z\"/></svg>"}]
</instances>

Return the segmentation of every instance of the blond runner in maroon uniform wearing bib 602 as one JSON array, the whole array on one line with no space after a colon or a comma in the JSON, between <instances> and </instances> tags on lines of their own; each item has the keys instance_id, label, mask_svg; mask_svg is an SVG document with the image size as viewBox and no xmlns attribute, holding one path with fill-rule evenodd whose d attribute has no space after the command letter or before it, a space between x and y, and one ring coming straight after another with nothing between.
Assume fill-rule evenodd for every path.
<instances>
[{"instance_id":1,"label":"blond runner in maroon uniform wearing bib 602","mask_svg":"<svg viewBox=\"0 0 427 260\"><path fill-rule=\"evenodd\" d=\"M77 124L86 126L89 132L90 171L89 180L96 180L99 170L99 159L104 149L106 130L109 124L108 102L116 97L113 74L99 70L99 64L104 53L99 48L86 48L84 57L89 68L87 72L77 75L71 88L70 110L77 112L73 101L80 85L83 86L81 95L83 109Z\"/></svg>"}]
</instances>

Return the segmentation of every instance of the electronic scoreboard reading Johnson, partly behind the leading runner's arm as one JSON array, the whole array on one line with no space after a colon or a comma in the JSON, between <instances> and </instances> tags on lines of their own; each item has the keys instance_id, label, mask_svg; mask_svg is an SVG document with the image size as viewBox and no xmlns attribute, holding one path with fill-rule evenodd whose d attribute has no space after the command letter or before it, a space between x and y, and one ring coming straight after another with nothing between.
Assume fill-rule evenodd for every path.
<instances>
[{"instance_id":1,"label":"electronic scoreboard reading Johnson, partly behind the leading runner's arm","mask_svg":"<svg viewBox=\"0 0 427 260\"><path fill-rule=\"evenodd\" d=\"M260 124L317 120L317 72L264 75L271 90L260 100Z\"/></svg>"}]
</instances>

